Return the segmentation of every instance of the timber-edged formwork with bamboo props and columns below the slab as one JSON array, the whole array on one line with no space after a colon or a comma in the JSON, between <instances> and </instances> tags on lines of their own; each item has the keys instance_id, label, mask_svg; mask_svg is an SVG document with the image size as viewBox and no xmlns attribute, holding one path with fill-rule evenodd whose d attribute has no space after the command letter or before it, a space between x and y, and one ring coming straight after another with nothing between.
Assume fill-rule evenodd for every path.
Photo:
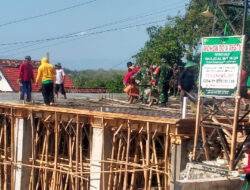
<instances>
[{"instance_id":1,"label":"timber-edged formwork with bamboo props and columns below the slab","mask_svg":"<svg viewBox=\"0 0 250 190\"><path fill-rule=\"evenodd\" d=\"M0 114L0 189L169 189L171 147L190 137L184 129L194 126L191 120L183 125L10 103L1 103Z\"/></svg>"}]
</instances>

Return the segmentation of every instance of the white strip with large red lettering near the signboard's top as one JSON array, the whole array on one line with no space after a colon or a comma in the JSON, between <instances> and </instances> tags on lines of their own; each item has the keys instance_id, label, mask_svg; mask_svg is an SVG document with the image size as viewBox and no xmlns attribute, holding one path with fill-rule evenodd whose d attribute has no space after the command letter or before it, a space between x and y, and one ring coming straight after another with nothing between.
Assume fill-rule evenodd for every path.
<instances>
[{"instance_id":1,"label":"white strip with large red lettering near the signboard's top","mask_svg":"<svg viewBox=\"0 0 250 190\"><path fill-rule=\"evenodd\" d=\"M229 44L229 45L203 45L203 52L232 52L241 51L241 44Z\"/></svg>"}]
</instances>

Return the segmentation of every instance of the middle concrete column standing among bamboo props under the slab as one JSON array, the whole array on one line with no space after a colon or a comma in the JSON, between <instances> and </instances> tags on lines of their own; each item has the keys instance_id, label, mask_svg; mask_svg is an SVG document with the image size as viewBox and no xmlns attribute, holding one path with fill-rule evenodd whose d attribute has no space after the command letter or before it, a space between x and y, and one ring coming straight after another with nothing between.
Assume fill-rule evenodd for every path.
<instances>
[{"instance_id":1,"label":"middle concrete column standing among bamboo props under the slab","mask_svg":"<svg viewBox=\"0 0 250 190\"><path fill-rule=\"evenodd\" d=\"M103 136L104 135L104 136ZM105 183L105 188L108 185L108 173L104 175L102 180L102 164L100 161L110 158L112 148L111 131L107 128L101 128L101 119L94 119L92 123L92 146L90 157L90 190L102 189L102 181ZM104 158L102 152L104 150ZM108 164L104 165L104 170L108 169Z\"/></svg>"}]
</instances>

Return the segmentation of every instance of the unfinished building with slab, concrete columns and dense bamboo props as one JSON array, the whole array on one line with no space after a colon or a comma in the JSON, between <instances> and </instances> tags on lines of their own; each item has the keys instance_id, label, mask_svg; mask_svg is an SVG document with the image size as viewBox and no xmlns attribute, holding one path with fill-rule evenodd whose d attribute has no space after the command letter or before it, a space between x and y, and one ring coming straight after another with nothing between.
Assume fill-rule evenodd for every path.
<instances>
[{"instance_id":1,"label":"unfinished building with slab, concrete columns and dense bamboo props","mask_svg":"<svg viewBox=\"0 0 250 190\"><path fill-rule=\"evenodd\" d=\"M207 127L199 139L208 140L198 141L197 161L229 161L232 107L207 104L206 113L217 116L203 119ZM174 99L167 108L130 105L112 95L55 107L1 102L0 189L197 189L197 183L200 189L235 189L241 182L230 178L229 162L188 164L205 177L219 175L213 182L181 176L192 160L195 114L188 107L181 119L179 106ZM248 113L240 112L239 146L249 136Z\"/></svg>"}]
</instances>

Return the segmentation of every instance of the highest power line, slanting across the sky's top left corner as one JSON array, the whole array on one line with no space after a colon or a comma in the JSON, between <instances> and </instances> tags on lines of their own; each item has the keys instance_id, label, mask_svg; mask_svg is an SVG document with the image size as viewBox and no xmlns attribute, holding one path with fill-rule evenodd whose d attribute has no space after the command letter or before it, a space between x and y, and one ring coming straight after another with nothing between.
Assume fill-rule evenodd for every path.
<instances>
[{"instance_id":1,"label":"highest power line, slanting across the sky's top left corner","mask_svg":"<svg viewBox=\"0 0 250 190\"><path fill-rule=\"evenodd\" d=\"M83 5L90 4L90 3L93 3L95 1L97 1L97 0L91 0L91 1L84 2L84 3L79 3L79 4L76 4L76 5L70 6L70 7L57 9L57 10L50 11L50 12L47 12L47 13L43 13L43 14L36 15L36 16L26 17L26 18L22 18L22 19L18 19L18 20L13 20L13 21L10 21L10 22L6 22L4 24L0 24L0 27L15 24L15 23L19 23L19 22L23 22L23 21L27 21L27 20L31 20L31 19L40 18L40 17L43 17L43 16L56 14L56 13L63 12L63 11L69 10L69 9L73 9L73 8L76 8L76 7L80 7L80 6L83 6Z\"/></svg>"}]
</instances>

